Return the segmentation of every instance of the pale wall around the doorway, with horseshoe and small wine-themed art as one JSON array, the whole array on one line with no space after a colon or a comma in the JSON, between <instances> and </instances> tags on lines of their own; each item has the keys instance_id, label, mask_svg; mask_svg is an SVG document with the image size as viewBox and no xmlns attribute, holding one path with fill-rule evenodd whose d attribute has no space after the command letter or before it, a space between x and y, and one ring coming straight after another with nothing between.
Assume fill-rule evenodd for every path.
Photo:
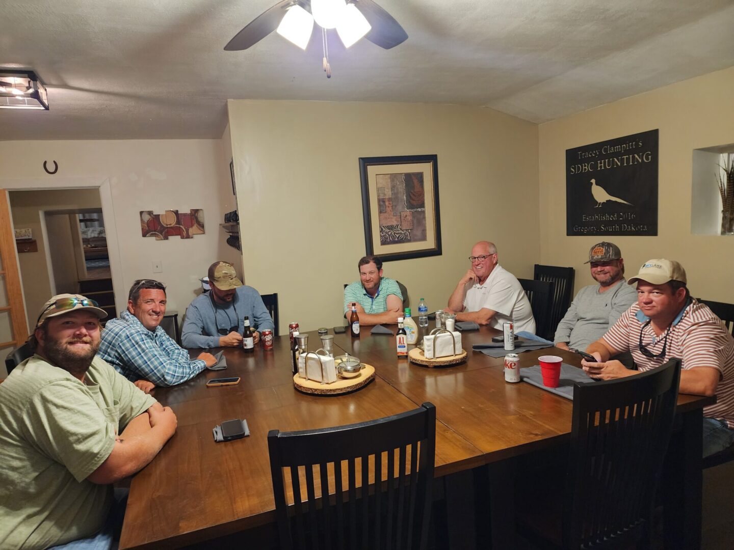
<instances>
[{"instance_id":1,"label":"pale wall around the doorway, with horseshoe and small wine-themed art","mask_svg":"<svg viewBox=\"0 0 734 550\"><path fill-rule=\"evenodd\" d=\"M123 280L115 280L115 287L122 285L126 295L135 279L159 279L168 287L169 309L177 309L181 320L208 265L219 258L239 261L219 227L224 213L234 208L229 161L225 164L223 158L221 139L0 142L0 187L40 180L53 188L54 175L46 175L44 160L57 161L56 177L65 181L109 179L114 215L105 217L105 225L116 227L123 266ZM204 209L204 235L167 241L142 238L139 210L190 208ZM153 273L153 260L162 261L162 273ZM42 295L34 299L45 300L48 289L34 294Z\"/></svg>"}]
</instances>

